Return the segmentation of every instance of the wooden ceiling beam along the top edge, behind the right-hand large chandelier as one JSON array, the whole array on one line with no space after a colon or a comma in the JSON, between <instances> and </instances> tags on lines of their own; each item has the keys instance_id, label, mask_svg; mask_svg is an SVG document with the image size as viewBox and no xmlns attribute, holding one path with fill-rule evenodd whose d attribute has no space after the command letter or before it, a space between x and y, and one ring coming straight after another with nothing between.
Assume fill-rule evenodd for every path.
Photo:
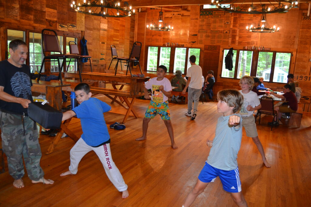
<instances>
[{"instance_id":1,"label":"wooden ceiling beam along the top edge, behind the right-hand large chandelier","mask_svg":"<svg viewBox=\"0 0 311 207\"><path fill-rule=\"evenodd\" d=\"M202 5L209 4L210 0L129 0L128 4L132 7L168 7L184 5ZM268 0L237 0L234 4L270 4ZM298 0L299 3L311 2L310 0Z\"/></svg>"}]
</instances>

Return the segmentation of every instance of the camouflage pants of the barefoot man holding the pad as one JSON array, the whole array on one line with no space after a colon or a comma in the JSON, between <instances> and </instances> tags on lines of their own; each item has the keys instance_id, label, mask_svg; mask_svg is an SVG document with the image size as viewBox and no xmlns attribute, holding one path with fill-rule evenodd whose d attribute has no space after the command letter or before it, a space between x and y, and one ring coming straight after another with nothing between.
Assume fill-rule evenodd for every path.
<instances>
[{"instance_id":1,"label":"camouflage pants of the barefoot man holding the pad","mask_svg":"<svg viewBox=\"0 0 311 207\"><path fill-rule=\"evenodd\" d=\"M3 152L7 155L10 175L20 179L25 175L23 157L31 180L38 181L44 176L40 167L42 156L38 140L38 131L34 129L34 121L28 116L24 118L25 135L21 115L0 111L0 127Z\"/></svg>"}]
</instances>

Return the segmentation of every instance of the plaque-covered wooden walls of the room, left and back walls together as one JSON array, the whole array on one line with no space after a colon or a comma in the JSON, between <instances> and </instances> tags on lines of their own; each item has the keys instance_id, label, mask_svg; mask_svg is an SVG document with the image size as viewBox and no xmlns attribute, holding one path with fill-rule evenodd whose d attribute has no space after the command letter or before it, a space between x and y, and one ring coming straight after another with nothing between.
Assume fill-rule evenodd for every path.
<instances>
[{"instance_id":1,"label":"plaque-covered wooden walls of the room, left and back walls together","mask_svg":"<svg viewBox=\"0 0 311 207\"><path fill-rule=\"evenodd\" d=\"M249 23L257 23L260 15L230 14L217 10L201 12L200 6L195 5L178 12L164 11L165 23L174 26L174 30L159 32L146 29L147 24L157 20L159 9L148 8L126 18L100 18L72 11L70 2L0 0L1 60L5 59L7 29L41 32L48 28L57 30L59 35L77 37L78 40L84 34L95 72L104 72L108 68L111 61L110 45L117 47L118 56L128 56L133 42L142 42L140 63L146 70L148 46L178 43L179 46L201 49L203 75L206 76L208 70L214 70L214 91L217 92L223 88L239 89L238 80L220 77L223 50L263 46L271 51L292 52L289 72L300 81L303 95L311 96L311 20L305 18L306 11L295 8L286 13L269 14L267 18L270 25L276 24L280 31L264 34L245 29ZM84 64L84 69L90 70L89 63ZM283 83L265 85L272 90L282 90Z\"/></svg>"}]
</instances>

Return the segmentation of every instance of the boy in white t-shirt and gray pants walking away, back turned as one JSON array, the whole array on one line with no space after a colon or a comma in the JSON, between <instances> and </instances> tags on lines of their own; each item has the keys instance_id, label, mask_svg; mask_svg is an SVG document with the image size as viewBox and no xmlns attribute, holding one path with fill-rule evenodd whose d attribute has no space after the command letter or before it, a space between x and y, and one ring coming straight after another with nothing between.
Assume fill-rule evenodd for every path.
<instances>
[{"instance_id":1,"label":"boy in white t-shirt and gray pants walking away, back turned","mask_svg":"<svg viewBox=\"0 0 311 207\"><path fill-rule=\"evenodd\" d=\"M188 81L183 89L183 94L186 93L188 88L188 111L185 113L186 116L191 116L191 120L194 120L197 116L197 106L199 105L199 98L202 93L202 68L199 65L195 64L196 56L192 55L189 58L191 67L187 70ZM204 82L204 77L203 77ZM193 113L192 110L192 101L193 104Z\"/></svg>"}]
</instances>

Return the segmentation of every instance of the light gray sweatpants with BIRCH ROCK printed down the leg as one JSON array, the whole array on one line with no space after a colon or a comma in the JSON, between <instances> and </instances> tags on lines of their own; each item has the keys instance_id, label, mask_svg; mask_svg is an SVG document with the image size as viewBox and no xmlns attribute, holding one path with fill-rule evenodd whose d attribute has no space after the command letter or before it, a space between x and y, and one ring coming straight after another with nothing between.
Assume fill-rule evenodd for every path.
<instances>
[{"instance_id":1,"label":"light gray sweatpants with BIRCH ROCK printed down the leg","mask_svg":"<svg viewBox=\"0 0 311 207\"><path fill-rule=\"evenodd\" d=\"M110 144L104 144L99 147L92 147L87 145L84 140L80 138L70 150L70 172L77 174L78 165L82 157L91 150L93 150L99 157L109 180L112 182L112 184L114 184L118 191L122 192L127 190L128 186L125 184L119 169L112 160Z\"/></svg>"}]
</instances>

